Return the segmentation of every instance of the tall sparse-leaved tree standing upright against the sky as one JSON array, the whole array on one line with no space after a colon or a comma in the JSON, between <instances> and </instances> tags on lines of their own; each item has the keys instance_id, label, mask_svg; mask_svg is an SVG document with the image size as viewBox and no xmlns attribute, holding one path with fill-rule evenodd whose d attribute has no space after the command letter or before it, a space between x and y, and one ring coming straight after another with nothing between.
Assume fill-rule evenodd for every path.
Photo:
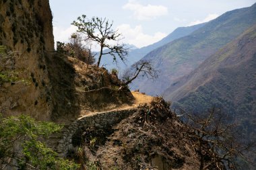
<instances>
[{"instance_id":1,"label":"tall sparse-leaved tree standing upright against the sky","mask_svg":"<svg viewBox=\"0 0 256 170\"><path fill-rule=\"evenodd\" d=\"M78 28L77 32L85 34L86 37L100 46L97 67L100 66L100 60L105 54L113 56L115 61L117 60L117 56L121 58L121 60L125 60L125 56L128 54L128 49L125 48L125 44L119 44L122 35L113 30L113 22L108 22L108 19L100 17L92 17L92 19L88 19L86 18L86 15L82 15L82 17L77 17L77 21L74 21L72 25ZM114 41L115 45L112 45L110 41ZM106 52L103 51L104 48L106 49Z\"/></svg>"}]
</instances>

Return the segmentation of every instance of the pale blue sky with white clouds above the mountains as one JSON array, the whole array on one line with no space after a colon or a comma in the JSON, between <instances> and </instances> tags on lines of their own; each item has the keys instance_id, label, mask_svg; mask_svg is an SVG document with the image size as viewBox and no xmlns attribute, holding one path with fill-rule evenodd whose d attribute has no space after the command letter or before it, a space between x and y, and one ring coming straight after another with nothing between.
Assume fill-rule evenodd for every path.
<instances>
[{"instance_id":1,"label":"pale blue sky with white clouds above the mountains","mask_svg":"<svg viewBox=\"0 0 256 170\"><path fill-rule=\"evenodd\" d=\"M208 22L226 11L249 7L255 0L50 0L55 42L68 42L77 17L106 17L138 48L158 42L173 30ZM92 47L94 48L94 47ZM96 48L96 47L95 47Z\"/></svg>"}]
</instances>

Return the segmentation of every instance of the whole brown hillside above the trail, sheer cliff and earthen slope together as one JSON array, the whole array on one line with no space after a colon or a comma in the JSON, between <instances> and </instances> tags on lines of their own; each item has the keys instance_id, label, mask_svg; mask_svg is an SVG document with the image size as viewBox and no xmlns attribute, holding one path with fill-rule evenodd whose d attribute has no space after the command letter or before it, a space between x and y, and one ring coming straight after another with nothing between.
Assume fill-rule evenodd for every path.
<instances>
[{"instance_id":1,"label":"whole brown hillside above the trail, sheer cliff and earthen slope together","mask_svg":"<svg viewBox=\"0 0 256 170\"><path fill-rule=\"evenodd\" d=\"M120 88L115 75L55 52L52 19L49 1L0 1L0 45L15 54L11 71L28 82L0 82L1 114L74 119L87 110L131 104L131 91Z\"/></svg>"}]
</instances>

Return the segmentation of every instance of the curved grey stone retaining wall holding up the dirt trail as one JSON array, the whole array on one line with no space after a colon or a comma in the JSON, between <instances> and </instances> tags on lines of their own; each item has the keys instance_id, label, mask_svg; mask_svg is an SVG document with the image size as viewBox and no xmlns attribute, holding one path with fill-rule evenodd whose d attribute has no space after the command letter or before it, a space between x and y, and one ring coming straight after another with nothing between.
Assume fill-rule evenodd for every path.
<instances>
[{"instance_id":1,"label":"curved grey stone retaining wall holding up the dirt trail","mask_svg":"<svg viewBox=\"0 0 256 170\"><path fill-rule=\"evenodd\" d=\"M137 108L130 110L117 110L112 112L99 112L90 116L84 116L72 122L63 132L63 136L57 145L57 153L59 156L66 157L69 150L73 149L72 138L75 132L81 128L104 128L113 126L121 122L121 120L129 117L136 112Z\"/></svg>"}]
</instances>

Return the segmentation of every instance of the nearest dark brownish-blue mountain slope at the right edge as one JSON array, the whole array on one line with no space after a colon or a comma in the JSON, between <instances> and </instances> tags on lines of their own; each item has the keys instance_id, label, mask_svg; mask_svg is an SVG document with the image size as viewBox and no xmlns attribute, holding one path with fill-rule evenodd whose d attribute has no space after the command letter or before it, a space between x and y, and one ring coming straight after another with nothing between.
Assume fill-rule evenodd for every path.
<instances>
[{"instance_id":1,"label":"nearest dark brownish-blue mountain slope at the right edge","mask_svg":"<svg viewBox=\"0 0 256 170\"><path fill-rule=\"evenodd\" d=\"M242 123L249 134L255 133L256 119L256 25L195 71L164 91L175 108L202 112L212 106L224 109ZM246 123L245 123L246 122ZM248 136L250 137L250 136ZM251 136L252 137L252 136Z\"/></svg>"}]
</instances>

